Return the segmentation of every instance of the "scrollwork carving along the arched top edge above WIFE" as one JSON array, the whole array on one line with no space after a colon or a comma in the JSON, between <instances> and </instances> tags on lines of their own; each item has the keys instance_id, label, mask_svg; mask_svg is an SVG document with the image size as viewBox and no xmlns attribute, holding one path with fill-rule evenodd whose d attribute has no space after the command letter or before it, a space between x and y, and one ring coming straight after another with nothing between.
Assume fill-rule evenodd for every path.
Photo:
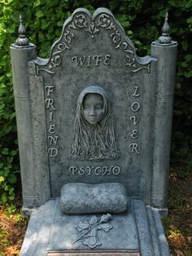
<instances>
[{"instance_id":1,"label":"scrollwork carving along the arched top edge above WIFE","mask_svg":"<svg viewBox=\"0 0 192 256\"><path fill-rule=\"evenodd\" d=\"M92 16L86 9L80 8L74 11L63 25L63 33L58 41L56 41L50 51L50 59L45 64L37 64L37 75L41 71L54 74L56 68L62 65L61 53L69 51L72 46L73 38L80 30L89 33L90 38L94 39L102 30L110 32L112 45L117 51L124 51L125 65L131 72L137 72L142 68L146 68L150 72L151 60L138 58L135 53L133 42L125 36L124 29L119 22L106 8L98 8Z\"/></svg>"}]
</instances>

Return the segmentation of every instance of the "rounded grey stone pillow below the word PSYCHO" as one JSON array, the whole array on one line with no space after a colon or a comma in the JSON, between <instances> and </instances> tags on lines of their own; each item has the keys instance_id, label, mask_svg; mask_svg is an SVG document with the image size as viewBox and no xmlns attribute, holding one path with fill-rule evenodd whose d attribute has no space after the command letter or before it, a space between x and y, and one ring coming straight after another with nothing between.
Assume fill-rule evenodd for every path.
<instances>
[{"instance_id":1,"label":"rounded grey stone pillow below the word PSYCHO","mask_svg":"<svg viewBox=\"0 0 192 256\"><path fill-rule=\"evenodd\" d=\"M67 183L61 189L65 214L119 214L127 208L127 191L121 183Z\"/></svg>"}]
</instances>

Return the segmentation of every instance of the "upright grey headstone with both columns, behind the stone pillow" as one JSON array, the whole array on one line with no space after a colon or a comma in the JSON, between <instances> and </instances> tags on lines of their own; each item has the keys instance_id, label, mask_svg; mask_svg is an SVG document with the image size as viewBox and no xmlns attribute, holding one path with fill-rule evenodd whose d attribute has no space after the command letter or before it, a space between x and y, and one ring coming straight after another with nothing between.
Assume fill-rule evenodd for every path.
<instances>
[{"instance_id":1,"label":"upright grey headstone with both columns, behind the stone pillow","mask_svg":"<svg viewBox=\"0 0 192 256\"><path fill-rule=\"evenodd\" d=\"M165 208L177 43L153 42L152 56L138 57L105 8L74 11L46 60L22 31L11 61L24 207L65 183L117 182ZM82 111L88 95L100 97L96 121Z\"/></svg>"}]
</instances>

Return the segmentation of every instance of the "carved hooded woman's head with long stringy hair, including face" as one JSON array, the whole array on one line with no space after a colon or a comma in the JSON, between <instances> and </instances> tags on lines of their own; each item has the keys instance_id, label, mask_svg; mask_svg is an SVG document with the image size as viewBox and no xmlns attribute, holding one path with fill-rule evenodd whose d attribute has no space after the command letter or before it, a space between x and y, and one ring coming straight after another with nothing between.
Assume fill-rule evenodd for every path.
<instances>
[{"instance_id":1,"label":"carved hooded woman's head with long stringy hair, including face","mask_svg":"<svg viewBox=\"0 0 192 256\"><path fill-rule=\"evenodd\" d=\"M85 87L77 99L70 157L99 160L119 156L107 92L100 86Z\"/></svg>"}]
</instances>

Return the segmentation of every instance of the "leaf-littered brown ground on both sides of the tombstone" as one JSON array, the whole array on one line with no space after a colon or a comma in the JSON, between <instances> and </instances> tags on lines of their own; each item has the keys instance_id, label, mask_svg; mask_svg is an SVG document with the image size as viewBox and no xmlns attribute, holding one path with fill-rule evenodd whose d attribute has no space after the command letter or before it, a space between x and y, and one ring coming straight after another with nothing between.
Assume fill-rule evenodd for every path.
<instances>
[{"instance_id":1,"label":"leaf-littered brown ground on both sides of the tombstone","mask_svg":"<svg viewBox=\"0 0 192 256\"><path fill-rule=\"evenodd\" d=\"M24 240L28 218L20 213L21 196L12 204L0 204L0 256L16 256ZM191 168L172 166L169 178L168 216L163 217L173 256L192 256Z\"/></svg>"}]
</instances>

